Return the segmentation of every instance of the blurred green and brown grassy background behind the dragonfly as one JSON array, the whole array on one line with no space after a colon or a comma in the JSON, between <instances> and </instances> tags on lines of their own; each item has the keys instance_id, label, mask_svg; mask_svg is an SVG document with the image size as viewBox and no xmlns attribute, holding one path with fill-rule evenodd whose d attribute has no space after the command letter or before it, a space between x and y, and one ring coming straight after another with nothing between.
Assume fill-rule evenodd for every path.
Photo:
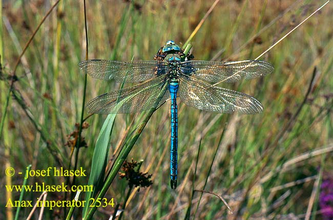
<instances>
[{"instance_id":1,"label":"blurred green and brown grassy background behind the dragonfly","mask_svg":"<svg viewBox=\"0 0 333 220\"><path fill-rule=\"evenodd\" d=\"M14 63L54 2L3 1L0 118L4 116ZM166 40L182 46L213 3L88 1L88 57L152 60ZM192 39L192 53L196 60L254 59L319 6L317 1L220 1ZM128 161L143 160L140 171L153 174L153 185L133 192L123 219L180 219L186 211L191 219L292 219L303 218L307 212L311 219L322 219L316 202L319 184L322 177L333 174L332 14L329 3L260 58L274 65L274 73L227 85L261 101L265 107L262 114L213 114L179 103L176 190L169 186L170 103L161 106L128 157ZM7 167L24 172L29 164L32 170L73 168L75 162L90 173L95 142L107 116L95 115L86 120L89 127L82 131L82 137L87 147L80 148L77 158L72 156L76 149L68 142L77 129L75 123L80 122L84 93L84 73L77 67L79 61L85 60L87 49L84 21L83 1L61 1L21 58L2 121L1 173ZM88 77L86 102L119 87L112 81ZM142 119L139 116L117 115L107 169L128 129L133 129L132 121ZM76 178L75 184L87 184L88 177ZM23 178L1 175L0 181L2 186L10 182L20 185ZM72 181L34 177L28 184ZM198 205L201 193L194 192L192 197L193 185L196 190L222 195L234 215L212 194L203 193ZM122 205L127 192L127 182L116 178L106 197ZM19 192L7 192L7 197L0 200L1 219L10 218L10 213L16 211L5 207L8 196L18 200ZM35 202L39 196L26 192L24 200ZM47 200L70 200L70 196L52 192ZM189 203L193 203L191 210ZM30 211L22 208L19 216L26 218ZM64 219L68 211L46 208L43 219ZM106 219L113 212L111 206L99 208L94 219ZM80 216L81 209L75 209L74 219Z\"/></svg>"}]
</instances>

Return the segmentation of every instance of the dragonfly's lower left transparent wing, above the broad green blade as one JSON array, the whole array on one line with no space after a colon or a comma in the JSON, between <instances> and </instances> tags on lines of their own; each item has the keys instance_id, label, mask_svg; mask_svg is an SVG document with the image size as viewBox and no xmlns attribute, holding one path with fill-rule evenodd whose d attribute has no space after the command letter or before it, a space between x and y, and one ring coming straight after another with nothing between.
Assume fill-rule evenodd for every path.
<instances>
[{"instance_id":1,"label":"dragonfly's lower left transparent wing, above the broad green blade","mask_svg":"<svg viewBox=\"0 0 333 220\"><path fill-rule=\"evenodd\" d=\"M91 100L86 109L88 113L119 114L135 113L157 107L169 98L166 76L106 93Z\"/></svg>"}]
</instances>

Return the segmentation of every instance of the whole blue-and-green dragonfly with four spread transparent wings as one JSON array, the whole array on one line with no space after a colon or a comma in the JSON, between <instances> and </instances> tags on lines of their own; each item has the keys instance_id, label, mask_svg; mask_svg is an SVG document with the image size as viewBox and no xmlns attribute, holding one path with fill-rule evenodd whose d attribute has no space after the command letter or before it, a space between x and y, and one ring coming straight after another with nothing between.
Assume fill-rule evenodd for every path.
<instances>
[{"instance_id":1,"label":"whole blue-and-green dragonfly with four spread transparent wings","mask_svg":"<svg viewBox=\"0 0 333 220\"><path fill-rule=\"evenodd\" d=\"M190 60L173 40L160 48L155 60L114 61L92 59L79 68L100 80L138 83L92 99L88 113L128 114L157 108L171 98L170 186L177 187L177 97L188 106L213 113L257 114L263 105L254 97L212 83L234 83L272 73L272 64L261 60Z\"/></svg>"}]
</instances>

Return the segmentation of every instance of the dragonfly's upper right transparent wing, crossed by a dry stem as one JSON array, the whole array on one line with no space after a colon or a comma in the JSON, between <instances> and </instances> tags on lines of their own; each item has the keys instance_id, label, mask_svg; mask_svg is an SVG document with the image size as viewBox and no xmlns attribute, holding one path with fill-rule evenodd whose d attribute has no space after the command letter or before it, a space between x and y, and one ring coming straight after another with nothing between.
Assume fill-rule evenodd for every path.
<instances>
[{"instance_id":1,"label":"dragonfly's upper right transparent wing, crossed by a dry stem","mask_svg":"<svg viewBox=\"0 0 333 220\"><path fill-rule=\"evenodd\" d=\"M272 73L272 64L261 60L235 62L186 61L181 72L208 82L236 82L241 78L254 79Z\"/></svg>"}]
</instances>

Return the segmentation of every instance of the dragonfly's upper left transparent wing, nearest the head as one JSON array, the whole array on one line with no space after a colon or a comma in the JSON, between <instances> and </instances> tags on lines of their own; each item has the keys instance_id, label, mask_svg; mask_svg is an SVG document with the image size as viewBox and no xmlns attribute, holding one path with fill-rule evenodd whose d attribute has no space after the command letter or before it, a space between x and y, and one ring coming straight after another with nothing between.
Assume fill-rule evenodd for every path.
<instances>
[{"instance_id":1,"label":"dragonfly's upper left transparent wing, nearest the head","mask_svg":"<svg viewBox=\"0 0 333 220\"><path fill-rule=\"evenodd\" d=\"M141 82L164 74L169 68L162 61L122 62L92 59L78 64L91 77L101 80L114 79L117 82Z\"/></svg>"}]
</instances>

